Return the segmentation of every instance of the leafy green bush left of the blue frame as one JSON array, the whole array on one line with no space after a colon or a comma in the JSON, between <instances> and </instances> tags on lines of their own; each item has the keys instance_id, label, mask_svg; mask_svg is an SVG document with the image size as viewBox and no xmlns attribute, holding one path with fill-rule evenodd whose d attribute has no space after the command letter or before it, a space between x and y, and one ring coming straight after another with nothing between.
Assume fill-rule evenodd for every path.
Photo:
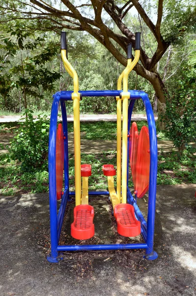
<instances>
[{"instance_id":1,"label":"leafy green bush left of the blue frame","mask_svg":"<svg viewBox=\"0 0 196 296\"><path fill-rule=\"evenodd\" d=\"M12 159L18 159L24 171L48 166L49 118L46 115L32 116L26 109L27 117L17 130L9 152Z\"/></svg>"}]
</instances>

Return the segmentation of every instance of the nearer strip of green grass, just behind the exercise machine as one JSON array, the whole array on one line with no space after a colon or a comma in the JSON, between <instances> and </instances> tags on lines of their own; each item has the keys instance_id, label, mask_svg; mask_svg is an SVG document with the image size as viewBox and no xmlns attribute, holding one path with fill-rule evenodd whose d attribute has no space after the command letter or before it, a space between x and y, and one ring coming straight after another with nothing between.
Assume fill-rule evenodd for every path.
<instances>
[{"instance_id":1,"label":"nearer strip of green grass, just behind the exercise machine","mask_svg":"<svg viewBox=\"0 0 196 296\"><path fill-rule=\"evenodd\" d=\"M99 154L81 155L82 164L92 165L92 176L89 178L89 190L107 189L107 178L103 175L102 165L113 164L116 167L116 151ZM178 153L161 153L158 157L158 185L196 184L196 149L188 148L180 158ZM114 177L116 182L116 178ZM74 189L74 156L69 154L69 183ZM116 185L116 183L114 183ZM129 186L133 186L131 171ZM48 191L47 166L40 171L24 172L20 163L11 160L6 162L6 155L0 156L0 194L14 195Z\"/></svg>"}]
</instances>

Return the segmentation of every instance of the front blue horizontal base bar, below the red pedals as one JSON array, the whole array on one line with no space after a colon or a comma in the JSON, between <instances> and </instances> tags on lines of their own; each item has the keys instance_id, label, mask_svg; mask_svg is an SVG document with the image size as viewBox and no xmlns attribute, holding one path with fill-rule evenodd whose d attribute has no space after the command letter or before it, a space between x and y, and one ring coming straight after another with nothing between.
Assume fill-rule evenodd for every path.
<instances>
[{"instance_id":1,"label":"front blue horizontal base bar, below the red pedals","mask_svg":"<svg viewBox=\"0 0 196 296\"><path fill-rule=\"evenodd\" d=\"M134 250L147 249L146 244L115 244L115 245L72 245L72 246L58 246L57 251L102 251L102 250Z\"/></svg>"}]
</instances>

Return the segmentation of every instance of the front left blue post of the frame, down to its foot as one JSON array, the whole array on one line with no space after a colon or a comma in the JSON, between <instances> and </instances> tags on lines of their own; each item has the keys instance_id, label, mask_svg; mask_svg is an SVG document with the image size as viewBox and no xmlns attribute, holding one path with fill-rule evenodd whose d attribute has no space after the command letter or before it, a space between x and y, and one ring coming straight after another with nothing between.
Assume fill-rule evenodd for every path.
<instances>
[{"instance_id":1,"label":"front left blue post of the frame, down to its foot","mask_svg":"<svg viewBox=\"0 0 196 296\"><path fill-rule=\"evenodd\" d=\"M60 94L56 93L51 110L48 169L49 169L49 202L50 202L50 228L51 228L51 254L47 257L49 262L58 262L57 256L57 199L56 199L56 125Z\"/></svg>"}]
</instances>

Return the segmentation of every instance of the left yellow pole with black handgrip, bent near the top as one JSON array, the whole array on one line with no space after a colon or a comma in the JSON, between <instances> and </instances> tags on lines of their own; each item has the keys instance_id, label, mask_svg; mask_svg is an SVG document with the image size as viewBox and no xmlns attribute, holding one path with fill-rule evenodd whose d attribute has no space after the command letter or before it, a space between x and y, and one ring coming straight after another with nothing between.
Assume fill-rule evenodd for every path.
<instances>
[{"instance_id":1,"label":"left yellow pole with black handgrip, bent near the top","mask_svg":"<svg viewBox=\"0 0 196 296\"><path fill-rule=\"evenodd\" d=\"M80 145L80 94L78 74L66 57L66 33L61 32L61 57L66 71L74 80L72 93L74 109L74 156L75 156L75 192L76 206L81 204L81 145Z\"/></svg>"}]
</instances>

